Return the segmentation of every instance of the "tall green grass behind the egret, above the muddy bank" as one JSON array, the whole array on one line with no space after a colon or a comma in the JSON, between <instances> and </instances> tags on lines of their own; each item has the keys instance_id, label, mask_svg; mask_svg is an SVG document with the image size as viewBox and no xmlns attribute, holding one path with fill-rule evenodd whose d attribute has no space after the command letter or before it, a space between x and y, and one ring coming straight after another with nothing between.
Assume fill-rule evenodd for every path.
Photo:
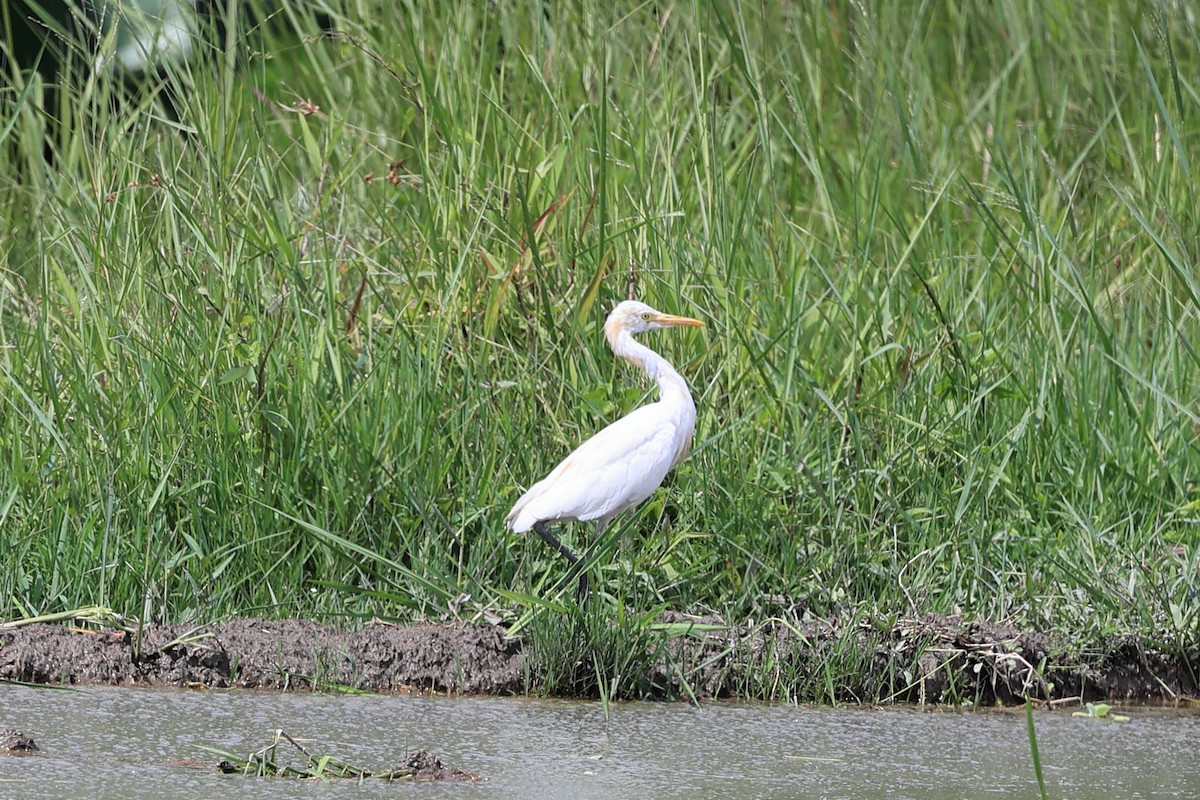
<instances>
[{"instance_id":1,"label":"tall green grass behind the egret, above the muddy bank","mask_svg":"<svg viewBox=\"0 0 1200 800\"><path fill-rule=\"evenodd\" d=\"M598 554L613 616L1200 646L1182 6L322 7L168 66L178 119L0 97L0 615L559 613L503 519L646 401L632 270L708 326L647 338L696 446Z\"/></svg>"}]
</instances>

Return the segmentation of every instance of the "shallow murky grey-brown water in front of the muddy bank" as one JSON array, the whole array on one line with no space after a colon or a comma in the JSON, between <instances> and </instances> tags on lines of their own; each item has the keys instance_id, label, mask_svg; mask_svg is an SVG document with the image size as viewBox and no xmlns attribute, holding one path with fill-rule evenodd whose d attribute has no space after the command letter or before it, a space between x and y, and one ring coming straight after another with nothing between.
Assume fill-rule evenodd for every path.
<instances>
[{"instance_id":1,"label":"shallow murky grey-brown water in front of the muddy bank","mask_svg":"<svg viewBox=\"0 0 1200 800\"><path fill-rule=\"evenodd\" d=\"M1039 712L1051 798L1200 798L1200 716L1124 723ZM0 757L0 798L1036 798L1019 711L341 697L0 685L0 728L41 746ZM276 728L367 769L430 750L479 783L244 778ZM188 765L196 759L197 765Z\"/></svg>"}]
</instances>

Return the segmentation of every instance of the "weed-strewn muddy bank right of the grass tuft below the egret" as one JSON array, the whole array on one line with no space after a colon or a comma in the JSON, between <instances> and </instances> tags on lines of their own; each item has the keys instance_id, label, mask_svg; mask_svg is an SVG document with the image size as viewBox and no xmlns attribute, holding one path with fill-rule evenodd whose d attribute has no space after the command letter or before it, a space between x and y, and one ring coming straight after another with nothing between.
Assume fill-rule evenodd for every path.
<instances>
[{"instance_id":1,"label":"weed-strewn muddy bank right of the grass tuft below the egret","mask_svg":"<svg viewBox=\"0 0 1200 800\"><path fill-rule=\"evenodd\" d=\"M832 693L847 703L1163 703L1195 698L1200 687L1200 651L1180 657L1122 639L1081 652L1054 634L950 615L857 630L781 620L724 640L672 643L671 657L684 674L686 664L712 664L695 673L697 694L739 696L739 687L766 684L798 702ZM817 682L827 687L815 691Z\"/></svg>"}]
</instances>

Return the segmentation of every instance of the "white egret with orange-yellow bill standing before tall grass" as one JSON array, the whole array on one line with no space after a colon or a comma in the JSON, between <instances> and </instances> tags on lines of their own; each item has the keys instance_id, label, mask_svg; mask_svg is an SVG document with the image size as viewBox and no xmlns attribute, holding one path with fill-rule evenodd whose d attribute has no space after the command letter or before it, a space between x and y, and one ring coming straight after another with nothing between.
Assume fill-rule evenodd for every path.
<instances>
[{"instance_id":1,"label":"white egret with orange-yellow bill standing before tall grass","mask_svg":"<svg viewBox=\"0 0 1200 800\"><path fill-rule=\"evenodd\" d=\"M658 383L659 401L630 411L600 431L530 486L509 512L505 521L509 530L522 534L532 528L577 569L578 557L550 533L550 523L594 519L599 540L613 517L654 494L671 468L691 449L696 404L674 367L634 336L703 324L690 317L664 314L634 300L612 309L604 325L608 347L613 355ZM587 591L588 577L581 572L580 595Z\"/></svg>"}]
</instances>

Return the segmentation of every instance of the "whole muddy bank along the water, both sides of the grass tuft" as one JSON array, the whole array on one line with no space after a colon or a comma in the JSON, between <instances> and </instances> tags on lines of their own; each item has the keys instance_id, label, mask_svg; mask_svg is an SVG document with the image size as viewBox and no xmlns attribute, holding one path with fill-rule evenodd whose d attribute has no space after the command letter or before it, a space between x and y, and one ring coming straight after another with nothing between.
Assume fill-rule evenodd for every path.
<instances>
[{"instance_id":1,"label":"whole muddy bank along the water, both sides of the grass tuft","mask_svg":"<svg viewBox=\"0 0 1200 800\"><path fill-rule=\"evenodd\" d=\"M1195 697L1200 672L1196 654L1115 642L1084 655L1051 636L953 616L853 631L822 621L713 630L719 620L680 614L664 621L677 632L689 621L697 627L647 658L643 685L652 697L757 697L770 685L775 697L804 700L805 685L835 673L838 698L848 702L1162 702ZM520 694L538 691L538 674L521 640L496 626L344 631L233 619L148 625L140 633L52 624L0 630L0 679L36 684Z\"/></svg>"}]
</instances>

